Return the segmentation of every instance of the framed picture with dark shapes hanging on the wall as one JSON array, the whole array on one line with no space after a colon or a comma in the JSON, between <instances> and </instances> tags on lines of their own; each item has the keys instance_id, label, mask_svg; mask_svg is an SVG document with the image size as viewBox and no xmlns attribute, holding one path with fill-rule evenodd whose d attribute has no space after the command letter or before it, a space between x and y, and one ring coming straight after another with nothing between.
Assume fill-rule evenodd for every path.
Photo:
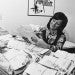
<instances>
[{"instance_id":1,"label":"framed picture with dark shapes hanging on the wall","mask_svg":"<svg viewBox=\"0 0 75 75\"><path fill-rule=\"evenodd\" d=\"M55 0L28 0L28 15L53 16Z\"/></svg>"}]
</instances>

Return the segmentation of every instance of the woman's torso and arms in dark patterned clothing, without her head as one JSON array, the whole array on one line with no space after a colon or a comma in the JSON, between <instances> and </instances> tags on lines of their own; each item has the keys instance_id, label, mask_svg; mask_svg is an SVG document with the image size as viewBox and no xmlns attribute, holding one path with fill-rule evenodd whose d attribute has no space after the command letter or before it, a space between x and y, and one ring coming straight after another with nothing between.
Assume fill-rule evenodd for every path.
<instances>
[{"instance_id":1,"label":"woman's torso and arms in dark patterned clothing, without her head","mask_svg":"<svg viewBox=\"0 0 75 75\"><path fill-rule=\"evenodd\" d=\"M50 45L51 50L56 51L58 49L62 49L66 41L66 36L63 32L50 32L46 28L39 29L39 32L41 33L42 39L45 41L45 43ZM48 35L46 35L47 32Z\"/></svg>"}]
</instances>

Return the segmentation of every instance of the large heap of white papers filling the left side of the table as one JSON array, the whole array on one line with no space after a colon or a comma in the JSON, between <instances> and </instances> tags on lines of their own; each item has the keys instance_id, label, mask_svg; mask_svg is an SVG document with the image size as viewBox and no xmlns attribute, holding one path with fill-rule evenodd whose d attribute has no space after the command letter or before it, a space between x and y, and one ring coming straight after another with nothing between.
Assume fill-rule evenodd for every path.
<instances>
[{"instance_id":1,"label":"large heap of white papers filling the left side of the table","mask_svg":"<svg viewBox=\"0 0 75 75\"><path fill-rule=\"evenodd\" d=\"M40 61L39 54L48 51L24 42L21 37L13 38L10 34L0 36L0 48L3 48L0 50L0 67L9 74L28 63Z\"/></svg>"}]
</instances>

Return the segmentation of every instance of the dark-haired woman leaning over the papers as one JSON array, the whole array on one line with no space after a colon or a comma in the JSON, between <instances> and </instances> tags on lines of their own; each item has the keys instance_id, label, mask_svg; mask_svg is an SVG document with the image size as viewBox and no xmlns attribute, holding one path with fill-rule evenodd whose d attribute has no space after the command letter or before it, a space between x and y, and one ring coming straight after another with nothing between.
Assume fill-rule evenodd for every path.
<instances>
[{"instance_id":1,"label":"dark-haired woman leaning over the papers","mask_svg":"<svg viewBox=\"0 0 75 75\"><path fill-rule=\"evenodd\" d=\"M57 12L49 20L46 27L40 28L39 31L36 31L35 33L39 38L43 39L42 44L45 44L47 48L55 52L58 49L62 49L63 44L66 41L63 29L67 25L67 22L68 19L66 15L62 12ZM33 38L33 40L35 39ZM37 45L41 47L38 42Z\"/></svg>"}]
</instances>

